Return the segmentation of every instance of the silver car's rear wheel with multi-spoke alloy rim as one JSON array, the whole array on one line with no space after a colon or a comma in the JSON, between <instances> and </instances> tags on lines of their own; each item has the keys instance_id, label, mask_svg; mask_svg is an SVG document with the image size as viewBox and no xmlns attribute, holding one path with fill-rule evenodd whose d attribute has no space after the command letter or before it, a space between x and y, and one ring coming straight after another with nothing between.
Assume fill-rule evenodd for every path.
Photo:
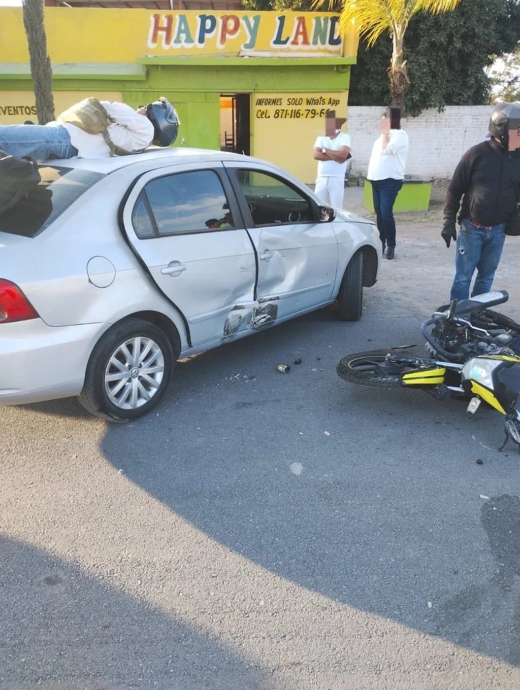
<instances>
[{"instance_id":1,"label":"silver car's rear wheel with multi-spoke alloy rim","mask_svg":"<svg viewBox=\"0 0 520 690\"><path fill-rule=\"evenodd\" d=\"M160 328L142 319L126 319L95 346L79 402L110 422L137 419L160 401L173 362L171 342Z\"/></svg>"}]
</instances>

